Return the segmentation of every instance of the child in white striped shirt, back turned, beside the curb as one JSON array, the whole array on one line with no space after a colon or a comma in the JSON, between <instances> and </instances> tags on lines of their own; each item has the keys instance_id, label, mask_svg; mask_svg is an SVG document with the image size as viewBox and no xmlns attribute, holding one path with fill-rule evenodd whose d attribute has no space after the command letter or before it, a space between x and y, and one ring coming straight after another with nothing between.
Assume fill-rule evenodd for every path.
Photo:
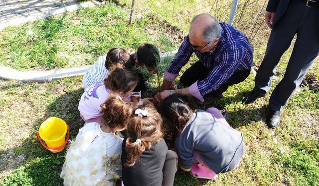
<instances>
[{"instance_id":1,"label":"child in white striped shirt, back turned, beside the curb","mask_svg":"<svg viewBox=\"0 0 319 186\"><path fill-rule=\"evenodd\" d=\"M103 81L109 75L109 69L113 64L134 63L134 58L122 48L113 48L109 50L106 56L100 56L83 75L83 88L86 90L89 86Z\"/></svg>"}]
</instances>

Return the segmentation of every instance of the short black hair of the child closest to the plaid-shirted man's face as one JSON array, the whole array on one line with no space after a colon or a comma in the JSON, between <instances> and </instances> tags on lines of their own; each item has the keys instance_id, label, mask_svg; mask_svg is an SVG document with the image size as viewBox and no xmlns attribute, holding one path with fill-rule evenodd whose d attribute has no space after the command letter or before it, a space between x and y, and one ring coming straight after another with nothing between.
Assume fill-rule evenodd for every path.
<instances>
[{"instance_id":1,"label":"short black hair of the child closest to the plaid-shirted man's face","mask_svg":"<svg viewBox=\"0 0 319 186\"><path fill-rule=\"evenodd\" d=\"M152 44L143 43L137 51L137 60L139 64L156 67L160 62L159 50Z\"/></svg>"}]
</instances>

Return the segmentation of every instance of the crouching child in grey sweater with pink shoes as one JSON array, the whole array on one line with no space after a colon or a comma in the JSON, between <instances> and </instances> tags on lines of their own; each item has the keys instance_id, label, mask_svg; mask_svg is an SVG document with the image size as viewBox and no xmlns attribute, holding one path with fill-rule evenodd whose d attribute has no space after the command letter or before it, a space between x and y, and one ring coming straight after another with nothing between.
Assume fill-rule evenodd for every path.
<instances>
[{"instance_id":1,"label":"crouching child in grey sweater with pink shoes","mask_svg":"<svg viewBox=\"0 0 319 186\"><path fill-rule=\"evenodd\" d=\"M238 166L245 148L243 135L227 124L218 109L196 110L189 97L173 94L163 100L161 113L171 122L182 170L214 179Z\"/></svg>"}]
</instances>

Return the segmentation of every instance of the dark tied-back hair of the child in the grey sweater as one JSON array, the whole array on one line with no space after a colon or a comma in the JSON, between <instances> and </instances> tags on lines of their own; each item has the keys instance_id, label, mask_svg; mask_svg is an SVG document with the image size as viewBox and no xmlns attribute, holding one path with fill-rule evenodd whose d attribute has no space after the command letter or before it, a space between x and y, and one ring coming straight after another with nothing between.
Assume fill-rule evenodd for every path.
<instances>
[{"instance_id":1,"label":"dark tied-back hair of the child in the grey sweater","mask_svg":"<svg viewBox=\"0 0 319 186\"><path fill-rule=\"evenodd\" d=\"M167 132L177 137L196 111L196 106L190 97L172 94L163 100L160 110L165 120L171 123Z\"/></svg>"}]
</instances>

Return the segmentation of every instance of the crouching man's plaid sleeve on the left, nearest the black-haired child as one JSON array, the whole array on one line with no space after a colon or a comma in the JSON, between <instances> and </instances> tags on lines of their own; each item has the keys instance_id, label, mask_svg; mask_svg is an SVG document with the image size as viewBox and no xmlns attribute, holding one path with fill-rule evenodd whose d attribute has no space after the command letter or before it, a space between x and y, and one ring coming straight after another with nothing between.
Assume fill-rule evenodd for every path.
<instances>
[{"instance_id":1,"label":"crouching man's plaid sleeve on the left, nearest the black-haired child","mask_svg":"<svg viewBox=\"0 0 319 186\"><path fill-rule=\"evenodd\" d=\"M188 36L185 37L184 41L179 47L176 57L170 62L166 73L164 73L164 78L170 78L174 80L180 69L188 62L189 58L193 54L194 50L191 48L190 43L187 42L187 38Z\"/></svg>"}]
</instances>

